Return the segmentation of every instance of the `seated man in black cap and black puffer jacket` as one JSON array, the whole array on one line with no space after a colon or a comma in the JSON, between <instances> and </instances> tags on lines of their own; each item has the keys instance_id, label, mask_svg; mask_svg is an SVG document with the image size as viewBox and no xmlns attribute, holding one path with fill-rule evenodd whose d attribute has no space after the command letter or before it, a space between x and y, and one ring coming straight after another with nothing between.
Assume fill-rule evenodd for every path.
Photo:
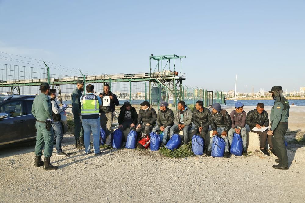
<instances>
[{"instance_id":1,"label":"seated man in black cap and black puffer jacket","mask_svg":"<svg viewBox=\"0 0 305 203\"><path fill-rule=\"evenodd\" d=\"M145 129L145 133L149 136L152 128L156 125L157 113L154 108L150 106L148 101L140 103L141 109L138 115L138 125L136 131L142 132ZM138 136L138 139L140 136Z\"/></svg>"}]
</instances>

